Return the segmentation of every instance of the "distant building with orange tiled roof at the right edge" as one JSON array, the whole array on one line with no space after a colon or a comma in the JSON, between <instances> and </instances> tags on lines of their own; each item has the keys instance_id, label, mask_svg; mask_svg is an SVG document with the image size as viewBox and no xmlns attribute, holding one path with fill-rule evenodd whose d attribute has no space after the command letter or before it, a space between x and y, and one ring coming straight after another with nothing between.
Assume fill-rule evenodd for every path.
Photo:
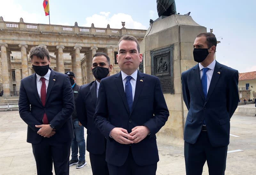
<instances>
[{"instance_id":1,"label":"distant building with orange tiled roof at the right edge","mask_svg":"<svg viewBox=\"0 0 256 175\"><path fill-rule=\"evenodd\" d=\"M256 71L239 73L239 98L242 100L246 98L256 98Z\"/></svg>"}]
</instances>

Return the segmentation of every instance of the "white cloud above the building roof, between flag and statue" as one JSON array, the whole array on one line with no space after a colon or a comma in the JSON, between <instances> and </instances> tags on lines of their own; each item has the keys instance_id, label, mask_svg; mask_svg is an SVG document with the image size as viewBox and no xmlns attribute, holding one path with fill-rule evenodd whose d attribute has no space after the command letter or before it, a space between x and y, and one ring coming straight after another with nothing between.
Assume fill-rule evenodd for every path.
<instances>
[{"instance_id":1,"label":"white cloud above the building roof, between flag and statue","mask_svg":"<svg viewBox=\"0 0 256 175\"><path fill-rule=\"evenodd\" d=\"M122 21L125 21L125 28L132 29L147 29L140 22L134 21L131 15L124 13L117 13L110 15L110 12L100 12L100 14L93 14L91 17L87 17L86 23L83 25L85 27L91 27L92 23L94 27L106 28L110 25L110 28L122 28Z\"/></svg>"}]
</instances>

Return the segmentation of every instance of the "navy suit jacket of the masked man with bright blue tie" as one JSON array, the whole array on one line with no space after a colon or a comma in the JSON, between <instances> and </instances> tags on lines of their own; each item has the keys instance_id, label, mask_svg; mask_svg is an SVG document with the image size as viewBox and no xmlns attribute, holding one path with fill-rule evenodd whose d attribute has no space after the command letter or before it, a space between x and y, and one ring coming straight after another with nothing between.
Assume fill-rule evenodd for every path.
<instances>
[{"instance_id":1,"label":"navy suit jacket of the masked man with bright blue tie","mask_svg":"<svg viewBox=\"0 0 256 175\"><path fill-rule=\"evenodd\" d=\"M205 120L213 147L229 144L230 118L238 101L238 71L216 61L210 87L204 98L198 64L181 74L183 100L188 108L184 140L194 144Z\"/></svg>"}]
</instances>

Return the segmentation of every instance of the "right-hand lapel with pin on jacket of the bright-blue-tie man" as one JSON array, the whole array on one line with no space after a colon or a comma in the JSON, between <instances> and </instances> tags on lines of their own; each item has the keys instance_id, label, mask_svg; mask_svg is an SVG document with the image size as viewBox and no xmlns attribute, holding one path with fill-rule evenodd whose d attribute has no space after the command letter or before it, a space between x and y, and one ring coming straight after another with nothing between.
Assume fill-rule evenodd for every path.
<instances>
[{"instance_id":1,"label":"right-hand lapel with pin on jacket of the bright-blue-tie man","mask_svg":"<svg viewBox=\"0 0 256 175\"><path fill-rule=\"evenodd\" d=\"M219 73L218 73L219 72ZM211 83L210 83L210 86L209 86L209 89L208 89L208 93L207 93L207 96L206 96L206 101L205 103L209 100L210 96L212 95L212 92L220 78L220 75L221 75L221 65L216 61L216 64L215 64L215 67L214 67L214 71L213 71L213 74L212 74L212 80L211 80Z\"/></svg>"}]
</instances>

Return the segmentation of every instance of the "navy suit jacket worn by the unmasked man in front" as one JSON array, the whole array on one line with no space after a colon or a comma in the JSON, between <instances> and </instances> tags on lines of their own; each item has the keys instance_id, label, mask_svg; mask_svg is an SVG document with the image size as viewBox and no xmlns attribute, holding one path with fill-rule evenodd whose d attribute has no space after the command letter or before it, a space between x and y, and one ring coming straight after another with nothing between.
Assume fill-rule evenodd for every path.
<instances>
[{"instance_id":1,"label":"navy suit jacket worn by the unmasked man in front","mask_svg":"<svg viewBox=\"0 0 256 175\"><path fill-rule=\"evenodd\" d=\"M106 161L122 166L131 147L136 164L156 164L159 161L156 133L169 116L159 79L138 72L131 113L128 110L121 72L102 79L98 93L94 122L108 138ZM150 135L131 146L120 144L109 137L114 127L124 128L131 133L135 126L147 126Z\"/></svg>"}]
</instances>

